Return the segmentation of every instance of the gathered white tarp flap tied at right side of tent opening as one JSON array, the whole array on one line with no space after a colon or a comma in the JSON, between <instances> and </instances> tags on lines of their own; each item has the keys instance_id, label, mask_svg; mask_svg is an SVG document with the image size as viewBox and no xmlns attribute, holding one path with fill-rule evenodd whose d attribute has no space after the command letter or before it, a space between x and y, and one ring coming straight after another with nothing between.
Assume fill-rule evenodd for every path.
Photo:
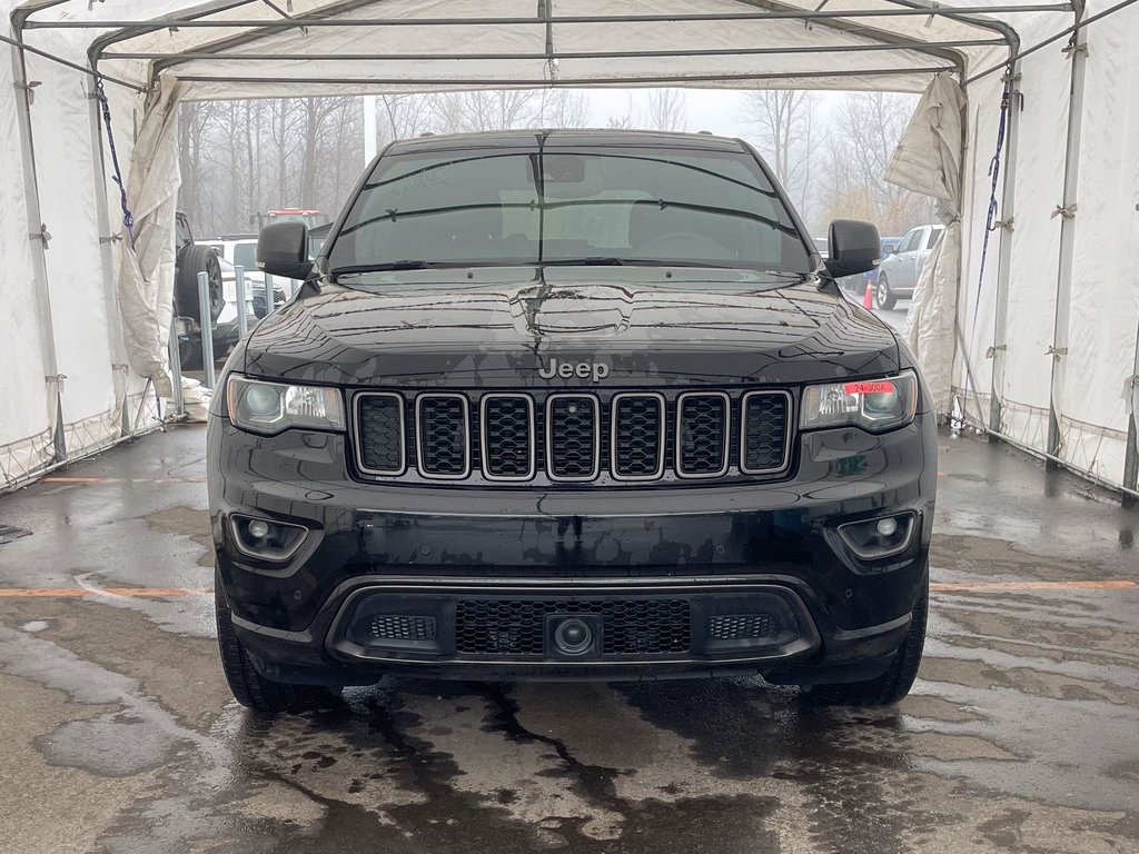
<instances>
[{"instance_id":1,"label":"gathered white tarp flap tied at right side of tent opening","mask_svg":"<svg viewBox=\"0 0 1139 854\"><path fill-rule=\"evenodd\" d=\"M950 411L953 394L964 117L961 85L939 74L918 101L886 170L891 183L937 199L937 215L945 223L937 248L921 270L903 334L940 412Z\"/></svg>"}]
</instances>

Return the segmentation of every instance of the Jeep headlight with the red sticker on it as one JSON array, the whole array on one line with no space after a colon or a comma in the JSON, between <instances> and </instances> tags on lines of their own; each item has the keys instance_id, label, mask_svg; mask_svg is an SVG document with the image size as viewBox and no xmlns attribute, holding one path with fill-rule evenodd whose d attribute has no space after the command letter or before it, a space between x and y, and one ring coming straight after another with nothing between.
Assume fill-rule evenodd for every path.
<instances>
[{"instance_id":1,"label":"Jeep headlight with the red sticker on it","mask_svg":"<svg viewBox=\"0 0 1139 854\"><path fill-rule=\"evenodd\" d=\"M800 426L804 430L851 426L885 433L912 421L917 405L918 378L913 371L880 379L826 383L804 389Z\"/></svg>"}]
</instances>

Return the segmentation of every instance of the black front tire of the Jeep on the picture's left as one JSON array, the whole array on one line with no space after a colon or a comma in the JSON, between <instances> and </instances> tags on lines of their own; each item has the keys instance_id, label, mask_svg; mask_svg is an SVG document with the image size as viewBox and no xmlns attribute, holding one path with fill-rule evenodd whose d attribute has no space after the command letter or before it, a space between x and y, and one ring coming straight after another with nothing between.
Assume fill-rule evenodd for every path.
<instances>
[{"instance_id":1,"label":"black front tire of the Jeep on the picture's left","mask_svg":"<svg viewBox=\"0 0 1139 854\"><path fill-rule=\"evenodd\" d=\"M282 712L308 712L335 705L338 689L326 685L300 685L272 682L262 676L253 665L253 659L241 646L233 631L232 613L221 586L221 577L214 574L214 610L218 617L218 647L221 651L221 667L233 697L246 708L265 715Z\"/></svg>"}]
</instances>

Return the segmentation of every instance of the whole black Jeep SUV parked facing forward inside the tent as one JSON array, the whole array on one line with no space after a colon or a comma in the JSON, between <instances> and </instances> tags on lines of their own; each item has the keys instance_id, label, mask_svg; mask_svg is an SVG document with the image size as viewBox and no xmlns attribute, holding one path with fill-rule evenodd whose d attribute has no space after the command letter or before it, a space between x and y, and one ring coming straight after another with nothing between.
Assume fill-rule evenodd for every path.
<instances>
[{"instance_id":1,"label":"whole black Jeep SUV parked facing forward inside the tent","mask_svg":"<svg viewBox=\"0 0 1139 854\"><path fill-rule=\"evenodd\" d=\"M884 704L921 655L935 422L738 140L390 146L208 430L226 675L265 712L384 674L762 674Z\"/></svg>"}]
</instances>

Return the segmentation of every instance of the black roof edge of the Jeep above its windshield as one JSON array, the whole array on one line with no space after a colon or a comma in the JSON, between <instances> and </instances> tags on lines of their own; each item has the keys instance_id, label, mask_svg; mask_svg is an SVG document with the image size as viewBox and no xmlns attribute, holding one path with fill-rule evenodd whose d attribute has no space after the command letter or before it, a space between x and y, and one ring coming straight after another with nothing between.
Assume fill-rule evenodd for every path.
<instances>
[{"instance_id":1,"label":"black roof edge of the Jeep above its windshield","mask_svg":"<svg viewBox=\"0 0 1139 854\"><path fill-rule=\"evenodd\" d=\"M461 148L536 148L539 139L547 148L636 146L641 148L689 148L710 151L744 151L744 143L711 133L675 131L632 131L625 129L510 130L449 133L398 140L384 154L444 151Z\"/></svg>"}]
</instances>

